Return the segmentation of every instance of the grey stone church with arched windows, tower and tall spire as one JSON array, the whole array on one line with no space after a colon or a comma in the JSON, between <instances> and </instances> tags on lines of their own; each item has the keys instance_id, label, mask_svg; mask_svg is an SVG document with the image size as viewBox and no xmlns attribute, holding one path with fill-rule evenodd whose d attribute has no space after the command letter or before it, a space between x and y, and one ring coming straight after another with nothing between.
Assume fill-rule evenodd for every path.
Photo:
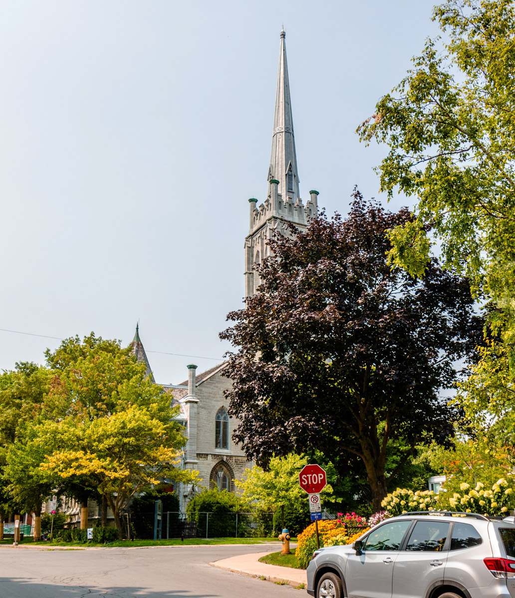
<instances>
[{"instance_id":1,"label":"grey stone church with arched windows, tower and tall spire","mask_svg":"<svg viewBox=\"0 0 515 598\"><path fill-rule=\"evenodd\" d=\"M254 264L259 264L263 258L268 257L267 241L276 233L290 234L289 223L295 225L298 230L305 229L309 218L316 215L318 209L318 191L310 191L310 197L305 204L302 203L299 194L284 30L280 33L267 187L266 199L259 206L255 197L249 199L249 233L244 245L246 297L251 297L259 286L259 275L254 270ZM155 381L138 327L131 346L138 361L146 364L147 374ZM173 396L172 401L179 407L177 421L184 426L187 438L180 466L199 471L202 478L201 487L217 487L219 490L235 492L235 480L243 477L245 469L252 467L252 462L247 460L244 451L232 440L232 432L238 422L228 416L228 403L224 391L231 388L231 380L224 376L225 368L226 363L222 363L197 373L196 365L190 364L187 366L187 378L184 382L162 386ZM180 500L180 510L184 512L187 503L199 488L178 483L174 490ZM92 521L100 517L100 509L94 501L89 502L88 518ZM44 510L48 511L49 507ZM65 511L71 515L72 523L78 522L80 505L71 501Z\"/></svg>"}]
</instances>

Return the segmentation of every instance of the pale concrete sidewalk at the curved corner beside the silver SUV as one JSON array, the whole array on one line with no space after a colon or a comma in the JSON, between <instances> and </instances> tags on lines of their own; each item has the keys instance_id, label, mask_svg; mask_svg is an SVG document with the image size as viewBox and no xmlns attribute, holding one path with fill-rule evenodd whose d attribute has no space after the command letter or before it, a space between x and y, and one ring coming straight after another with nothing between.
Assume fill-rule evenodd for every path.
<instances>
[{"instance_id":1,"label":"pale concrete sidewalk at the curved corner beside the silver SUV","mask_svg":"<svg viewBox=\"0 0 515 598\"><path fill-rule=\"evenodd\" d=\"M250 553L241 554L230 559L222 559L209 563L213 567L225 569L234 573L242 573L243 575L250 575L251 577L258 577L266 579L267 581L286 582L287 584L297 587L304 584L307 586L306 572L304 569L292 569L290 567L280 567L278 565L266 565L260 563L261 557L270 554L266 553Z\"/></svg>"}]
</instances>

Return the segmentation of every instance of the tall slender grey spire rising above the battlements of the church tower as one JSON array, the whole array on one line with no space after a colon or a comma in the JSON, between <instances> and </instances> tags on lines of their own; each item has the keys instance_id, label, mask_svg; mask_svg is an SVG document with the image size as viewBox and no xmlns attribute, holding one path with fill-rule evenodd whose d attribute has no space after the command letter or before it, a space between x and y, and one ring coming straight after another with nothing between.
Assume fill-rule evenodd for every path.
<instances>
[{"instance_id":1,"label":"tall slender grey spire rising above the battlements of the church tower","mask_svg":"<svg viewBox=\"0 0 515 598\"><path fill-rule=\"evenodd\" d=\"M279 181L278 193L283 198L291 197L293 203L299 197L299 176L293 136L292 102L286 62L286 33L281 30L277 91L275 92L274 130L268 181ZM269 191L270 193L270 191Z\"/></svg>"}]
</instances>

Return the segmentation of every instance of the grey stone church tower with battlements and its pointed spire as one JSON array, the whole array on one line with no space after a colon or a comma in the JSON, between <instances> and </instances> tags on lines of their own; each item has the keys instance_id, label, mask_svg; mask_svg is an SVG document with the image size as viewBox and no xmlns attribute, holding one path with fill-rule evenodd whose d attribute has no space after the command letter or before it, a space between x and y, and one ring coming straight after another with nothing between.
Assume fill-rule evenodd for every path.
<instances>
[{"instance_id":1,"label":"grey stone church tower with battlements and its pointed spire","mask_svg":"<svg viewBox=\"0 0 515 598\"><path fill-rule=\"evenodd\" d=\"M249 199L250 230L245 239L246 297L252 296L259 286L259 276L253 270L253 266L268 257L270 251L266 241L275 233L287 234L287 222L292 222L299 230L304 229L308 218L317 213L318 191L310 191L310 200L305 206L299 196L285 38L286 33L283 30L275 93L272 152L268 169L268 195L259 207L257 199Z\"/></svg>"}]
</instances>

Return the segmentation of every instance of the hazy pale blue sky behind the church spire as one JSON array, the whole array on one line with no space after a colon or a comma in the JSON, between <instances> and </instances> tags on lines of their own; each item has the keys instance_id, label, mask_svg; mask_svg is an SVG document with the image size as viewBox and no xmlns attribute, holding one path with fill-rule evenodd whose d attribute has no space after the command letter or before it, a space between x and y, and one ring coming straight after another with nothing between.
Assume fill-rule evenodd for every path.
<instances>
[{"instance_id":1,"label":"hazy pale blue sky behind the church spire","mask_svg":"<svg viewBox=\"0 0 515 598\"><path fill-rule=\"evenodd\" d=\"M355 129L437 32L432 5L0 2L0 328L126 344L139 319L158 382L212 367L265 199L281 25L301 196L346 213L355 184L379 197L386 149ZM57 344L0 331L0 369Z\"/></svg>"}]
</instances>

